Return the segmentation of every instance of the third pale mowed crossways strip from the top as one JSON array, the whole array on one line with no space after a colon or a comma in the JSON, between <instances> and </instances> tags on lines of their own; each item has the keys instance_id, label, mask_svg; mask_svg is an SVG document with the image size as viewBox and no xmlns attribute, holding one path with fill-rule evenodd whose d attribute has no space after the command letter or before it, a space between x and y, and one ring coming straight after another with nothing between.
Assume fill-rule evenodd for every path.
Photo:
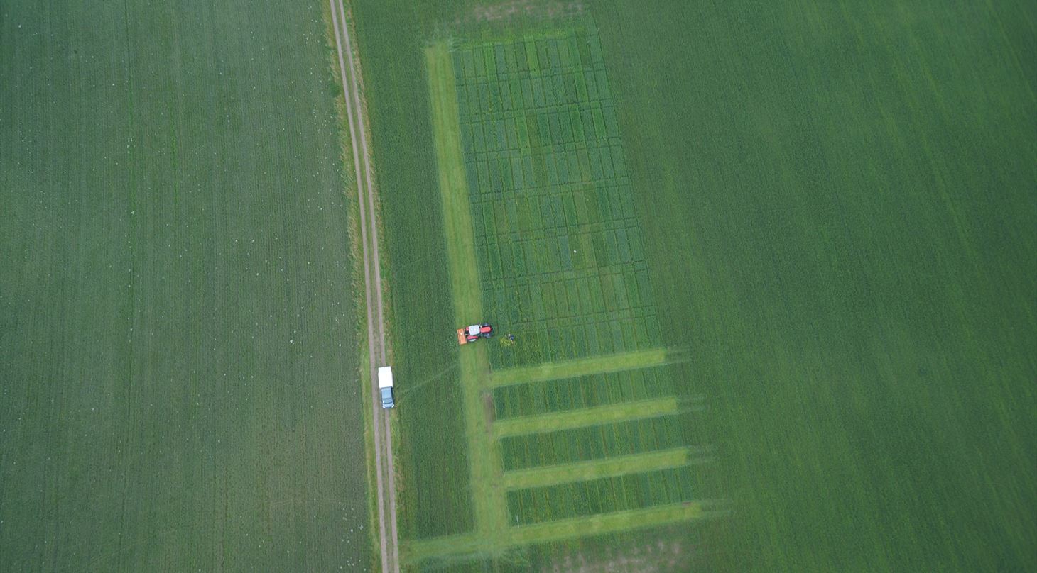
<instances>
[{"instance_id":1,"label":"third pale mowed crossways strip from the top","mask_svg":"<svg viewBox=\"0 0 1037 573\"><path fill-rule=\"evenodd\" d=\"M543 487L566 482L622 476L623 474L680 467L699 460L709 452L707 448L673 448L629 456L618 456L584 462L533 467L506 471L503 485L507 489Z\"/></svg>"}]
</instances>

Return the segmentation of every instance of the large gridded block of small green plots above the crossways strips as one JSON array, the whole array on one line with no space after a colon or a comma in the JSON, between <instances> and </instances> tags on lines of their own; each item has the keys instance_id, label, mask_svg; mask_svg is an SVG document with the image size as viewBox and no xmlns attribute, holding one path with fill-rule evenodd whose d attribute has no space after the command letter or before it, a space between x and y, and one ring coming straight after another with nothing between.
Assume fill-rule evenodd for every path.
<instances>
[{"instance_id":1,"label":"large gridded block of small green plots above the crossways strips","mask_svg":"<svg viewBox=\"0 0 1037 573\"><path fill-rule=\"evenodd\" d=\"M496 368L657 346L651 283L595 32L453 53Z\"/></svg>"}]
</instances>

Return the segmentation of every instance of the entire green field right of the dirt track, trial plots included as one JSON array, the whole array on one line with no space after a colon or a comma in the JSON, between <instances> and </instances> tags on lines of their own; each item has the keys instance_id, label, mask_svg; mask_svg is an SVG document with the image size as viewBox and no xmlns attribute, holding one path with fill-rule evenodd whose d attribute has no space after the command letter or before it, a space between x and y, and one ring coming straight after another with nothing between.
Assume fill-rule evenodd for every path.
<instances>
[{"instance_id":1,"label":"entire green field right of the dirt track, trial plots included","mask_svg":"<svg viewBox=\"0 0 1037 573\"><path fill-rule=\"evenodd\" d=\"M355 16L412 568L1037 567L1029 4Z\"/></svg>"}]
</instances>

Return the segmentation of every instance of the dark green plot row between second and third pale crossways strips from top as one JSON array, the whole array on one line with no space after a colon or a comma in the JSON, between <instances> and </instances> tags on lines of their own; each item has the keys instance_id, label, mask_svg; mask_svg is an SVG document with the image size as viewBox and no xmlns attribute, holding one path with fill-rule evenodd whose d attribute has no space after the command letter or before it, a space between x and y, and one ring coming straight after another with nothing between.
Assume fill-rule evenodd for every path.
<instances>
[{"instance_id":1,"label":"dark green plot row between second and third pale crossways strips from top","mask_svg":"<svg viewBox=\"0 0 1037 573\"><path fill-rule=\"evenodd\" d=\"M660 416L501 438L505 471L677 448L685 443L679 416Z\"/></svg>"}]
</instances>

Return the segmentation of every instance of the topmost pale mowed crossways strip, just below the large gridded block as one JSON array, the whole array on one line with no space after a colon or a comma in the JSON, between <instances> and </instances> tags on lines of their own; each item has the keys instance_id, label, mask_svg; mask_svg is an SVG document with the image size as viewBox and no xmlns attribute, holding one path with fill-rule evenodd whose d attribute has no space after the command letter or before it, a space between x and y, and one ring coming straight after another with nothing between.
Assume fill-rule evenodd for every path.
<instances>
[{"instance_id":1,"label":"topmost pale mowed crossways strip, just below the large gridded block","mask_svg":"<svg viewBox=\"0 0 1037 573\"><path fill-rule=\"evenodd\" d=\"M544 363L536 366L495 370L489 377L489 385L491 388L494 388L518 382L537 382L557 378L571 378L573 376L600 374L604 372L634 370L648 366L658 366L667 364L667 362L668 353L666 348L650 348L647 350L636 350L634 352L623 352L605 356L592 356L572 361Z\"/></svg>"}]
</instances>

